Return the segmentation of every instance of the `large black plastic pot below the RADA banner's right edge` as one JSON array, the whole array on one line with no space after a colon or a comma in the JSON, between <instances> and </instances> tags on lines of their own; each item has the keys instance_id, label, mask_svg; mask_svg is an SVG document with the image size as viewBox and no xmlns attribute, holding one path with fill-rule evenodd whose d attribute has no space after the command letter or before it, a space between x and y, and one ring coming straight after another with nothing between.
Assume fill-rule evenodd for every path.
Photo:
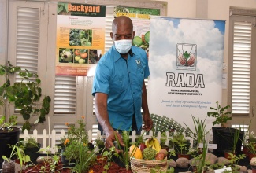
<instances>
[{"instance_id":1,"label":"large black plastic pot below the RADA banner's right edge","mask_svg":"<svg viewBox=\"0 0 256 173\"><path fill-rule=\"evenodd\" d=\"M213 154L216 156L224 156L224 150L232 149L234 144L233 137L236 131L235 128L230 127L212 127L213 144L217 144L217 149L213 149ZM236 154L242 153L242 141L244 132L240 131L239 140L236 145Z\"/></svg>"}]
</instances>

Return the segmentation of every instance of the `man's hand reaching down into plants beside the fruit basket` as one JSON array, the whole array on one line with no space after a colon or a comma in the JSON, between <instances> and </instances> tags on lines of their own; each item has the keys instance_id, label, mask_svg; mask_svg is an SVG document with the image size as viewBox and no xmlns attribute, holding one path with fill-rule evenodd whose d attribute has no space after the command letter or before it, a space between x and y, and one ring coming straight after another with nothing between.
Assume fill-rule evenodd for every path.
<instances>
[{"instance_id":1,"label":"man's hand reaching down into plants beside the fruit basket","mask_svg":"<svg viewBox=\"0 0 256 173\"><path fill-rule=\"evenodd\" d=\"M123 139L121 138L121 134L119 134L117 131L114 131L114 130L106 131L106 141L105 141L106 149L109 149L115 146L113 144L114 141L117 141L121 146L124 146L124 142L123 142ZM121 153L120 149L116 148L115 151L116 153Z\"/></svg>"}]
</instances>

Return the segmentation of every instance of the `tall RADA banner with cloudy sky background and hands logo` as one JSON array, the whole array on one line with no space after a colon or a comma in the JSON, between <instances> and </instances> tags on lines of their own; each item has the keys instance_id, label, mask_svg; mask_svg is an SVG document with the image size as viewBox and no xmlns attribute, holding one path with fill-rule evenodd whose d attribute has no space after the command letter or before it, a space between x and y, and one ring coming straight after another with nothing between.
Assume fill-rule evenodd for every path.
<instances>
[{"instance_id":1,"label":"tall RADA banner with cloudy sky background and hands logo","mask_svg":"<svg viewBox=\"0 0 256 173\"><path fill-rule=\"evenodd\" d=\"M191 116L213 126L207 112L222 99L224 28L222 20L150 18L150 113L192 129Z\"/></svg>"}]
</instances>

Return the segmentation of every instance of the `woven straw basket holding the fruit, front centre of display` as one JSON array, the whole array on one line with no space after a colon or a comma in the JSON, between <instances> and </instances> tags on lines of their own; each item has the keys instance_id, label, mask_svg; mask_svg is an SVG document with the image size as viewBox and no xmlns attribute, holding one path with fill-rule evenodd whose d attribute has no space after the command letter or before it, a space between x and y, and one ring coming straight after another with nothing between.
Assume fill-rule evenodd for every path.
<instances>
[{"instance_id":1,"label":"woven straw basket holding the fruit, front centre of display","mask_svg":"<svg viewBox=\"0 0 256 173\"><path fill-rule=\"evenodd\" d=\"M156 168L156 172L167 171L167 160L144 160L135 159L131 160L132 172L135 173L150 173L150 169Z\"/></svg>"}]
</instances>

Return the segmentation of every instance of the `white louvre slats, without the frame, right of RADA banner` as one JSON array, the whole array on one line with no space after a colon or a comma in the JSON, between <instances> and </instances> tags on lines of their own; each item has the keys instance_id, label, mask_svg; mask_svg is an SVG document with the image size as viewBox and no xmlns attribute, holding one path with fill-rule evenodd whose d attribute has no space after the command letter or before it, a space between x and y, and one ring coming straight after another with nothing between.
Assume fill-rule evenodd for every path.
<instances>
[{"instance_id":1,"label":"white louvre slats, without the frame, right of RADA banner","mask_svg":"<svg viewBox=\"0 0 256 173\"><path fill-rule=\"evenodd\" d=\"M232 113L250 111L251 23L234 22L232 65Z\"/></svg>"}]
</instances>

